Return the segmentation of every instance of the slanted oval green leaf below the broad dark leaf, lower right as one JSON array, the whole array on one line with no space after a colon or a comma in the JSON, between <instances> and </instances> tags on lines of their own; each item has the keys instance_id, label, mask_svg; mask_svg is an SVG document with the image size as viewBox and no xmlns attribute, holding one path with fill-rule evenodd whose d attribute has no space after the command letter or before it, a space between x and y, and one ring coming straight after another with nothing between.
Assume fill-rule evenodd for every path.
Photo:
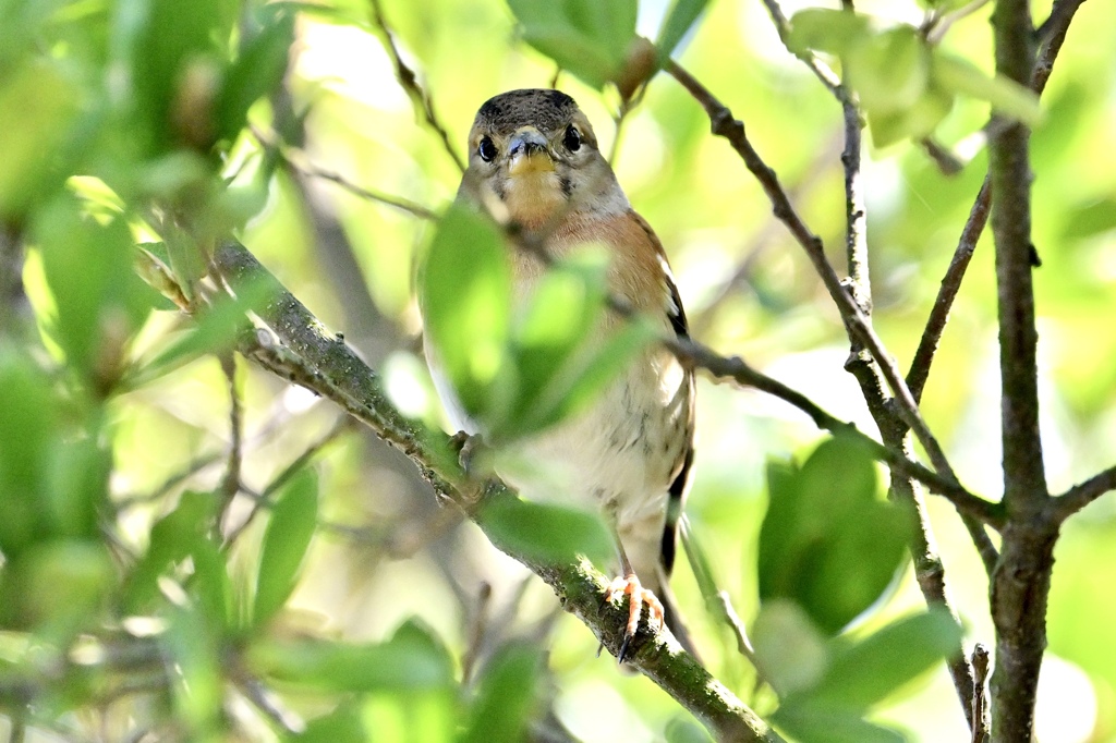
<instances>
[{"instance_id":1,"label":"slanted oval green leaf below the broad dark leaf, lower right","mask_svg":"<svg viewBox=\"0 0 1116 743\"><path fill-rule=\"evenodd\" d=\"M857 643L836 643L825 677L808 694L810 704L863 711L956 652L961 627L947 611L932 609Z\"/></svg>"}]
</instances>

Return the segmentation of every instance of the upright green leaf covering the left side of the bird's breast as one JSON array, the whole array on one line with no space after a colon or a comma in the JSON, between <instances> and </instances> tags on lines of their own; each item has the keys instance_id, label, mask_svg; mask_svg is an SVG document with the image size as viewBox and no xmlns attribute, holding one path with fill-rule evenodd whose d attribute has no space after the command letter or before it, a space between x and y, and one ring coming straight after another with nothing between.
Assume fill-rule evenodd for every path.
<instances>
[{"instance_id":1,"label":"upright green leaf covering the left side of the bird's breast","mask_svg":"<svg viewBox=\"0 0 1116 743\"><path fill-rule=\"evenodd\" d=\"M461 404L484 419L506 364L511 269L499 230L466 206L442 218L421 279L425 334Z\"/></svg>"}]
</instances>

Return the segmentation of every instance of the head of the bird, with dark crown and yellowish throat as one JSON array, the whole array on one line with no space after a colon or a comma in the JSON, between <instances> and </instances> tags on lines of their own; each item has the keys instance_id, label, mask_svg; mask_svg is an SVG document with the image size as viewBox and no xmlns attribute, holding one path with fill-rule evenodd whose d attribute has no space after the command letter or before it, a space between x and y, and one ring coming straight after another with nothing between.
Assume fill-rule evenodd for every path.
<instances>
[{"instance_id":1,"label":"head of the bird, with dark crown and yellowish throat","mask_svg":"<svg viewBox=\"0 0 1116 743\"><path fill-rule=\"evenodd\" d=\"M559 90L511 90L489 99L477 112L469 153L462 190L481 201L494 195L525 226L628 206L589 119Z\"/></svg>"}]
</instances>

